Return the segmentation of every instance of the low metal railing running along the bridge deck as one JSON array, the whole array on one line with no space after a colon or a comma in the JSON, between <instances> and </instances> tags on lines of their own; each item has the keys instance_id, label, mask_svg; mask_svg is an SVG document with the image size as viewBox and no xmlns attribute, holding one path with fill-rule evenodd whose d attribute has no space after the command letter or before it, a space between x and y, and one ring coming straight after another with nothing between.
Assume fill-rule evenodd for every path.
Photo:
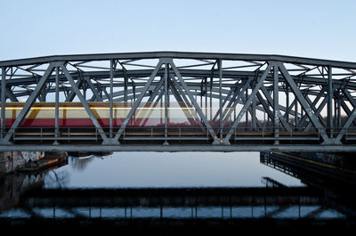
<instances>
[{"instance_id":1,"label":"low metal railing running along the bridge deck","mask_svg":"<svg viewBox=\"0 0 356 236\"><path fill-rule=\"evenodd\" d=\"M101 134L105 134L107 137L115 136L119 127L115 127L111 130L109 127L104 127L101 131L96 127L61 127L57 132L53 127L18 127L12 133L13 141L45 141L45 140L64 140L64 141L101 141ZM325 131L326 129L323 128ZM9 132L6 129L4 132L0 132L2 136ZM235 141L243 140L300 140L311 141L320 140L321 129L310 129L308 131L303 128L298 129L279 129L276 132L272 127L260 127L260 128L246 128L237 127L232 129L231 139ZM214 132L214 133L213 133ZM223 137L231 132L231 127L212 127L210 130L206 127L164 127L164 126L150 126L150 127L125 127L123 133L120 136L120 140L123 141L140 141L140 140L200 140L209 141L214 137L222 135ZM336 138L338 134L342 132L342 140L356 140L356 127L349 127L346 129L334 128L333 138ZM329 134L329 132L328 132Z\"/></svg>"}]
</instances>

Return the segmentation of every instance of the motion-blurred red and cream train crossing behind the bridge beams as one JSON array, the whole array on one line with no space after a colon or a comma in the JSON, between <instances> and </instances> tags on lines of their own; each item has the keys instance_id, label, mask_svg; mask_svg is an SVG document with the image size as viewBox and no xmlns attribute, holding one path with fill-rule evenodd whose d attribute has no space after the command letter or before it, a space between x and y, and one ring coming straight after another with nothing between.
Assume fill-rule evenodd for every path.
<instances>
[{"instance_id":1,"label":"motion-blurred red and cream train crossing behind the bridge beams","mask_svg":"<svg viewBox=\"0 0 356 236\"><path fill-rule=\"evenodd\" d=\"M25 102L6 102L6 127L12 126L24 105ZM88 105L99 124L102 127L109 127L109 102L88 102ZM127 126L164 126L165 107L159 106L159 102L157 104L142 102L134 112ZM131 109L131 102L113 102L113 126L121 126ZM168 108L168 122L169 126L199 126L202 123L194 108L184 107L182 104L179 104L179 102L170 102ZM28 110L28 114L20 126L54 127L55 103L35 102L30 110ZM80 102L60 102L59 126L91 127L94 125L92 119Z\"/></svg>"}]
</instances>

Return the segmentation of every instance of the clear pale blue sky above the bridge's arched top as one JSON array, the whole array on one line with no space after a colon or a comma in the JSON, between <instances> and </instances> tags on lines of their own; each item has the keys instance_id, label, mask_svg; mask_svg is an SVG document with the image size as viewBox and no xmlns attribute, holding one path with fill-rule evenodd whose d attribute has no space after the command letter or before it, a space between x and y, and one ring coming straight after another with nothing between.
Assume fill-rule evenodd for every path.
<instances>
[{"instance_id":1,"label":"clear pale blue sky above the bridge's arched top","mask_svg":"<svg viewBox=\"0 0 356 236\"><path fill-rule=\"evenodd\" d=\"M356 61L352 0L0 0L0 6L0 61L150 51Z\"/></svg>"}]
</instances>

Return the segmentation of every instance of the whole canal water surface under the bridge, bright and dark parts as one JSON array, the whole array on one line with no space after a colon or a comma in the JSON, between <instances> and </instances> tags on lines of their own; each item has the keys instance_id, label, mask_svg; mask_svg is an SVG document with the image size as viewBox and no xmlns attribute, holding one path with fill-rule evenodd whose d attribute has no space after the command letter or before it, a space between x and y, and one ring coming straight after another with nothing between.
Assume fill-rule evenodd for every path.
<instances>
[{"instance_id":1,"label":"whole canal water surface under the bridge, bright and dark parts","mask_svg":"<svg viewBox=\"0 0 356 236\"><path fill-rule=\"evenodd\" d=\"M69 156L61 167L5 175L0 224L107 220L127 226L154 220L155 225L191 226L198 220L233 225L239 220L293 224L302 219L308 225L353 225L353 201L344 198L353 186L337 191L338 183L259 152Z\"/></svg>"}]
</instances>

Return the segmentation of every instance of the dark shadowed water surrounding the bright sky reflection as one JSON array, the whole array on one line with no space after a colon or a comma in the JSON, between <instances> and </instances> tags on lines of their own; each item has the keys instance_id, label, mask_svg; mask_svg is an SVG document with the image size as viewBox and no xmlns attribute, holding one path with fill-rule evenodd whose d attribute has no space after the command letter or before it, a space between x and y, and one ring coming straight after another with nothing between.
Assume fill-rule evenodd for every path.
<instances>
[{"instance_id":1,"label":"dark shadowed water surrounding the bright sky reflection","mask_svg":"<svg viewBox=\"0 0 356 236\"><path fill-rule=\"evenodd\" d=\"M69 159L77 171L93 162L93 157ZM168 234L187 229L276 234L355 228L355 182L350 181L355 175L316 171L311 164L268 152L261 153L260 163L304 184L289 186L262 176L261 186L68 188L65 172L5 175L0 226L13 232L117 229Z\"/></svg>"}]
</instances>

